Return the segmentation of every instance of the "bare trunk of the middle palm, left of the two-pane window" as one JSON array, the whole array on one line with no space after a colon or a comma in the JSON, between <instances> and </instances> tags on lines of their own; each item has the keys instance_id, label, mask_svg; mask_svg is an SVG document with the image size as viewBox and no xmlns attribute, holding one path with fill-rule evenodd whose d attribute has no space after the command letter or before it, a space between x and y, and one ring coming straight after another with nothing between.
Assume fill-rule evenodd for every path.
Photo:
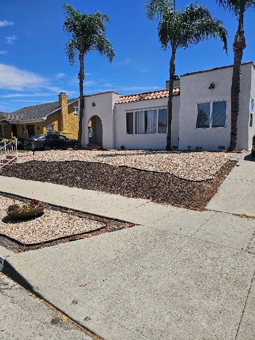
<instances>
[{"instance_id":1,"label":"bare trunk of the middle palm, left of the two-pane window","mask_svg":"<svg viewBox=\"0 0 255 340\"><path fill-rule=\"evenodd\" d=\"M172 42L172 54L170 59L170 67L169 67L169 94L168 94L168 103L167 103L167 137L166 137L166 150L172 150L171 148L171 125L172 125L172 110L173 110L173 76L175 74L175 52L176 47L175 43Z\"/></svg>"}]
</instances>

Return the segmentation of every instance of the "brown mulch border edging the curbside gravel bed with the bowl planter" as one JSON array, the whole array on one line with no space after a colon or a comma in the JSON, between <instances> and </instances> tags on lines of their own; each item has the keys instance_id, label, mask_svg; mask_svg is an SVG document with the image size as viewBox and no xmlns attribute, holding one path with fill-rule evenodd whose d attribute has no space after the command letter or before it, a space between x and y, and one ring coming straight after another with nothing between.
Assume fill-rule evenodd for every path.
<instances>
[{"instance_id":1,"label":"brown mulch border edging the curbside gravel bed with the bowl planter","mask_svg":"<svg viewBox=\"0 0 255 340\"><path fill-rule=\"evenodd\" d=\"M1 196L11 198L12 200L15 199L15 200L21 200L22 202L28 202L27 199L15 197L14 195L10 195L10 194L3 194ZM75 236L69 235L67 237L58 238L56 240L43 242L41 244L33 245L33 246L26 245L26 244L20 244L20 242L15 241L15 239L6 237L5 235L1 235L1 233L0 233L0 245L2 245L3 247L5 247L5 248L7 248L11 251L14 251L15 253L19 253L19 252L24 252L24 251L29 251L29 250L36 250L36 249L40 249L40 248L51 247L51 246L59 245L61 243L65 243L65 242L70 242L70 241L75 241L75 240L79 240L79 239L83 239L83 238L97 236L97 235L101 235L101 234L104 234L104 233L107 233L107 232L118 231L118 230L121 230L123 228L131 228L131 227L135 226L132 223L120 222L120 221L112 220L112 219L106 218L106 217L90 215L90 214L84 213L84 212L79 211L79 210L67 209L67 208L64 208L64 207L56 207L56 206L53 206L53 205L48 205L48 208L52 209L54 211L70 214L72 216L85 217L85 218L87 218L91 221L100 222L100 223L104 224L105 227L103 227L99 230L92 230L92 231L88 231L86 233L78 234L78 235L75 235Z\"/></svg>"}]
</instances>

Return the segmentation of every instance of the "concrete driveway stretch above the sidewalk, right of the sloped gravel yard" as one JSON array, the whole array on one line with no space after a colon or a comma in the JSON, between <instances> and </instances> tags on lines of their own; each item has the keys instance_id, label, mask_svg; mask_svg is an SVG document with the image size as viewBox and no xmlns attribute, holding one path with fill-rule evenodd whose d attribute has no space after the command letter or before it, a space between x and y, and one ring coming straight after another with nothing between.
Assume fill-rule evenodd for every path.
<instances>
[{"instance_id":1,"label":"concrete driveway stretch above the sidewalk, right of the sloped gravel yard","mask_svg":"<svg viewBox=\"0 0 255 340\"><path fill-rule=\"evenodd\" d=\"M219 187L207 209L255 216L255 157L238 155L238 164Z\"/></svg>"}]
</instances>

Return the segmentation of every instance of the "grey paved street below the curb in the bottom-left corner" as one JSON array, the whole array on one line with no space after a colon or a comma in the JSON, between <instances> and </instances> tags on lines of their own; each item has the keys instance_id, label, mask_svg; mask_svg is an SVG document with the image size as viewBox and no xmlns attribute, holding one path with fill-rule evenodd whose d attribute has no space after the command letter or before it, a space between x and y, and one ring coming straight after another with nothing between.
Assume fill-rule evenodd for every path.
<instances>
[{"instance_id":1,"label":"grey paved street below the curb in the bottom-left corner","mask_svg":"<svg viewBox=\"0 0 255 340\"><path fill-rule=\"evenodd\" d=\"M1 340L92 340L2 273L0 301Z\"/></svg>"}]
</instances>

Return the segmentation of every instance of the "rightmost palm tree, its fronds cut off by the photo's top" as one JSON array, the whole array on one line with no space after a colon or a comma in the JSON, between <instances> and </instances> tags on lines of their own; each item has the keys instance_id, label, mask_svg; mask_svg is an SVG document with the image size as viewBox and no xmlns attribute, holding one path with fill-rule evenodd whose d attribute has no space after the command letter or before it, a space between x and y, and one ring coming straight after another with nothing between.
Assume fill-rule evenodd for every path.
<instances>
[{"instance_id":1,"label":"rightmost palm tree, its fronds cut off by the photo's top","mask_svg":"<svg viewBox=\"0 0 255 340\"><path fill-rule=\"evenodd\" d=\"M240 107L241 65L243 50L246 47L243 18L246 10L254 8L255 0L216 0L225 10L231 11L238 18L238 29L233 43L234 65L231 86L231 135L228 151L237 150L237 119Z\"/></svg>"}]
</instances>

